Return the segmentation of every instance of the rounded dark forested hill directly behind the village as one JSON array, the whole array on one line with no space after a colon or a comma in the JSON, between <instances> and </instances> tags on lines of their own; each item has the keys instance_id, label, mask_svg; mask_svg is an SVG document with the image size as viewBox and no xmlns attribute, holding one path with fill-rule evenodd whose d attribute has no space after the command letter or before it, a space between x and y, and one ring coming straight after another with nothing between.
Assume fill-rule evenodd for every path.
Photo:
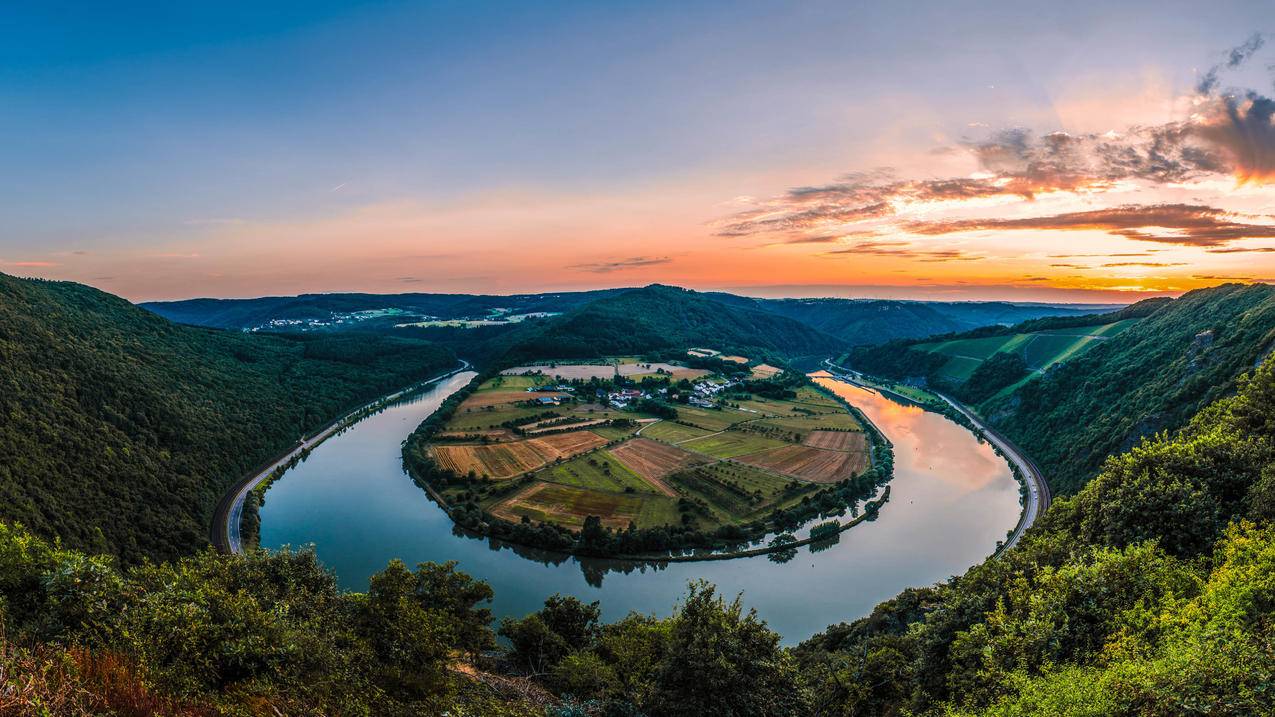
<instances>
[{"instance_id":1,"label":"rounded dark forested hill directly behind the village","mask_svg":"<svg viewBox=\"0 0 1275 717\"><path fill-rule=\"evenodd\" d=\"M506 342L509 361L589 358L691 346L755 348L796 358L822 357L844 347L840 339L793 319L658 285L590 301L510 332L501 341Z\"/></svg>"}]
</instances>

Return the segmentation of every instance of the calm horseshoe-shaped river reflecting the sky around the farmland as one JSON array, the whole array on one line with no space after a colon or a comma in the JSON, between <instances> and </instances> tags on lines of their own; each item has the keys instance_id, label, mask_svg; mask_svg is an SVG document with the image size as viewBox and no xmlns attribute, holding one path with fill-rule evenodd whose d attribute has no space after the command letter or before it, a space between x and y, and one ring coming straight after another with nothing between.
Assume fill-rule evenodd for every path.
<instances>
[{"instance_id":1,"label":"calm horseshoe-shaped river reflecting the sky around the farmland","mask_svg":"<svg viewBox=\"0 0 1275 717\"><path fill-rule=\"evenodd\" d=\"M873 390L816 380L847 398L894 443L890 501L876 521L831 546L714 563L626 563L547 554L456 531L403 472L402 441L453 392L465 371L329 438L266 494L261 545L312 543L343 587L366 589L390 559L455 560L496 591L495 612L524 615L556 592L601 601L607 620L629 611L667 615L688 580L704 578L743 601L796 643L853 620L904 588L963 573L984 560L1019 521L1009 464L968 430Z\"/></svg>"}]
</instances>

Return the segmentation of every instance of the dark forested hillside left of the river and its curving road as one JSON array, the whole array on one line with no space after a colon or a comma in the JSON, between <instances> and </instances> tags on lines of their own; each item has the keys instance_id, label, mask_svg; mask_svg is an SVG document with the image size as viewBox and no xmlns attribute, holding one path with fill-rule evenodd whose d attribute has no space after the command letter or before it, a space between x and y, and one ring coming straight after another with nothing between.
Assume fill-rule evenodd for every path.
<instances>
[{"instance_id":1,"label":"dark forested hillside left of the river and its curving road","mask_svg":"<svg viewBox=\"0 0 1275 717\"><path fill-rule=\"evenodd\" d=\"M186 555L250 468L454 364L409 339L182 327L0 274L0 518L127 563Z\"/></svg>"}]
</instances>

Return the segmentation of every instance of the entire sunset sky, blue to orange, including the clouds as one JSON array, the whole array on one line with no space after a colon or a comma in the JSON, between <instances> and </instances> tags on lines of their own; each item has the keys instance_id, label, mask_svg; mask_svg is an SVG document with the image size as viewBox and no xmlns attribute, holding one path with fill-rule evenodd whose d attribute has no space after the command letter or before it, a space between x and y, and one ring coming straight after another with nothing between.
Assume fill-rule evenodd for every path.
<instances>
[{"instance_id":1,"label":"entire sunset sky, blue to orange, including the clouds","mask_svg":"<svg viewBox=\"0 0 1275 717\"><path fill-rule=\"evenodd\" d=\"M133 300L1275 281L1267 3L24 5L5 273Z\"/></svg>"}]
</instances>

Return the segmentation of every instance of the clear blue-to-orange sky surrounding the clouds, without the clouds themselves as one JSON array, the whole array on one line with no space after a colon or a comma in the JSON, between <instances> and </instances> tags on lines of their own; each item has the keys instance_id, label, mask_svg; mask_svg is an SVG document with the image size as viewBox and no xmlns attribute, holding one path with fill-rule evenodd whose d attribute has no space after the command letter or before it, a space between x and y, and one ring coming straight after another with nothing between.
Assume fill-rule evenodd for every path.
<instances>
[{"instance_id":1,"label":"clear blue-to-orange sky surrounding the clouds, without the clouds themselves","mask_svg":"<svg viewBox=\"0 0 1275 717\"><path fill-rule=\"evenodd\" d=\"M850 268L826 251L766 255L713 223L741 198L848 172L943 175L933 152L979 133L1179 120L1201 69L1269 14L1257 3L261 5L0 10L0 270L135 299L853 287L886 273L928 291L955 274L877 267L880 251ZM1265 65L1228 82L1269 91ZM632 269L569 268L611 264ZM1014 272L965 270L1012 283Z\"/></svg>"}]
</instances>

